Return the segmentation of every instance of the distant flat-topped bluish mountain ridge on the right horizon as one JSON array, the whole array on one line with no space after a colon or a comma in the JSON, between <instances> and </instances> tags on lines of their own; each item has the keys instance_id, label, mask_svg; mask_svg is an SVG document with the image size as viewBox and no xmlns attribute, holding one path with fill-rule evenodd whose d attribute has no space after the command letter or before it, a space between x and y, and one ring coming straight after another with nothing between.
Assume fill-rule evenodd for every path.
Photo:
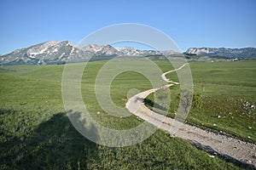
<instances>
[{"instance_id":1,"label":"distant flat-topped bluish mountain ridge on the right horizon","mask_svg":"<svg viewBox=\"0 0 256 170\"><path fill-rule=\"evenodd\" d=\"M189 48L186 54L226 58L250 58L256 57L256 48Z\"/></svg>"}]
</instances>

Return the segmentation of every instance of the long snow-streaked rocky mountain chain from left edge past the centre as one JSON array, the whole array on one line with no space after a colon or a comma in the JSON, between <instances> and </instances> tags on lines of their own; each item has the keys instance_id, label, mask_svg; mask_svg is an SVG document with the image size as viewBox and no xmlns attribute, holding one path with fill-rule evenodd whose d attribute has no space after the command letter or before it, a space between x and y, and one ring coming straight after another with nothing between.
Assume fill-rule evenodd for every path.
<instances>
[{"instance_id":1,"label":"long snow-streaked rocky mountain chain from left edge past the centre","mask_svg":"<svg viewBox=\"0 0 256 170\"><path fill-rule=\"evenodd\" d=\"M175 54L173 51L160 52L154 50L138 50L136 48L113 48L110 45L90 44L84 48L73 42L49 41L28 48L16 49L10 54L0 56L0 65L51 65L67 62L84 62L89 59L111 59L115 56L152 56Z\"/></svg>"}]
</instances>

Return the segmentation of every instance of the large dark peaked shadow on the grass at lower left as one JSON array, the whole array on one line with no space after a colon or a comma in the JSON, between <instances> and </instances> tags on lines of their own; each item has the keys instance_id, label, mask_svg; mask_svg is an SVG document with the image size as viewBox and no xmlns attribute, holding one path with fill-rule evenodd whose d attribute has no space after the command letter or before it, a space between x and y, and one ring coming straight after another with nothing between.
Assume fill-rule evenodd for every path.
<instances>
[{"instance_id":1,"label":"large dark peaked shadow on the grass at lower left","mask_svg":"<svg viewBox=\"0 0 256 170\"><path fill-rule=\"evenodd\" d=\"M96 128L91 133L97 136ZM86 169L98 158L97 144L85 139L62 112L42 122L26 139L12 137L0 150L1 169Z\"/></svg>"}]
</instances>

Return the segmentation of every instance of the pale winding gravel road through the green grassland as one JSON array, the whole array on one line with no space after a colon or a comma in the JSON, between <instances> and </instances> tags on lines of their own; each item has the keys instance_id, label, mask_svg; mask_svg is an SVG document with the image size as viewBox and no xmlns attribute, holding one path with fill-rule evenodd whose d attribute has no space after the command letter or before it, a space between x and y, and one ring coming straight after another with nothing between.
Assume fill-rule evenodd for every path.
<instances>
[{"instance_id":1,"label":"pale winding gravel road through the green grassland","mask_svg":"<svg viewBox=\"0 0 256 170\"><path fill-rule=\"evenodd\" d=\"M176 70L167 71L161 75L161 78L169 82L165 86L171 87L179 84L179 82L173 82L166 78L166 74L173 71L181 70L184 64L177 68ZM223 134L217 134L212 132L207 132L199 127L195 127L183 122L178 122L170 117L160 115L154 111L151 111L144 105L143 99L145 99L149 94L154 93L160 88L153 88L142 93L132 96L126 102L125 107L132 114L139 116L146 122L159 127L162 130L170 133L174 126L180 127L172 137L177 137L180 139L185 139L189 143L194 144L196 147L203 150L207 150L210 157L221 156L225 160L233 161L243 167L256 167L256 144L252 144L241 139L232 138Z\"/></svg>"}]
</instances>

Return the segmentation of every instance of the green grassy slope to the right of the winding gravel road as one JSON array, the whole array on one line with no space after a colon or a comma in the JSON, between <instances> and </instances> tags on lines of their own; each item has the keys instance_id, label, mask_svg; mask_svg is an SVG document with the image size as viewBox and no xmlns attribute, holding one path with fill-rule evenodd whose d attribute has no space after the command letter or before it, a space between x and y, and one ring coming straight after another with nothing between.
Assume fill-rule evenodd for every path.
<instances>
[{"instance_id":1,"label":"green grassy slope to the right of the winding gravel road","mask_svg":"<svg viewBox=\"0 0 256 170\"><path fill-rule=\"evenodd\" d=\"M202 108L192 108L187 121L213 131L230 133L256 142L256 62L191 63L195 93L201 94ZM167 77L174 77L175 74ZM205 90L203 91L203 87ZM172 88L169 116L177 111L178 87ZM154 94L148 96L154 101ZM245 106L247 102L250 104ZM213 126L215 124L216 126Z\"/></svg>"}]
</instances>

